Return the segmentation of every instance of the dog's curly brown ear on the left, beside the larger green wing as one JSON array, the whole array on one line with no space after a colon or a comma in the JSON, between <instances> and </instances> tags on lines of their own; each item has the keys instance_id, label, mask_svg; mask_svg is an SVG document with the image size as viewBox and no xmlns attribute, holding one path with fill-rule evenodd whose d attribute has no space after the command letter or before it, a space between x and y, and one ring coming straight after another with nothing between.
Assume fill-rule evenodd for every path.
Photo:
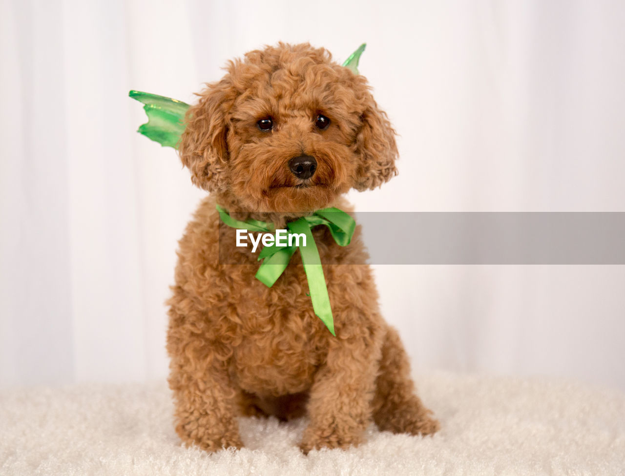
<instances>
[{"instance_id":1,"label":"dog's curly brown ear on the left, beside the larger green wing","mask_svg":"<svg viewBox=\"0 0 625 476\"><path fill-rule=\"evenodd\" d=\"M178 144L180 159L191 171L191 181L209 192L225 187L226 112L232 103L229 92L228 78L207 85L199 94L199 102L187 111L186 127Z\"/></svg>"}]
</instances>

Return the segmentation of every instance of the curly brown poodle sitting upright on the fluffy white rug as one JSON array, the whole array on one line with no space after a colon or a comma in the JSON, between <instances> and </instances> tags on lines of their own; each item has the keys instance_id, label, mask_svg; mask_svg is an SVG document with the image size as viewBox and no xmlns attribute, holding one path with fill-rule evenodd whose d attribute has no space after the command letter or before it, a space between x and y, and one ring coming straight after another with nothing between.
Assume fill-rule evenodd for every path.
<instances>
[{"instance_id":1,"label":"curly brown poodle sitting upright on the fluffy white rug","mask_svg":"<svg viewBox=\"0 0 625 476\"><path fill-rule=\"evenodd\" d=\"M362 442L381 430L431 434L396 330L382 319L359 229L339 247L313 230L336 337L316 317L299 253L271 287L257 254L236 247L216 204L239 220L276 227L347 204L352 187L396 174L397 148L366 79L309 44L278 44L229 62L189 109L179 144L192 182L211 192L180 240L169 299L169 385L176 431L214 451L242 447L237 416L307 414L301 449ZM244 264L228 264L228 263Z\"/></svg>"}]
</instances>

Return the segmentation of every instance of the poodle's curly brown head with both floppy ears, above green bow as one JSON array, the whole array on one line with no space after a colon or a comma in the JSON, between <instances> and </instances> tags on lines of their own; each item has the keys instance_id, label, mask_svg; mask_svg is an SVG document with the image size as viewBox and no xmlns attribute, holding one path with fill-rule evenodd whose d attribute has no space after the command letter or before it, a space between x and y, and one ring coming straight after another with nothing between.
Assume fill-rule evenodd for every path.
<instances>
[{"instance_id":1,"label":"poodle's curly brown head with both floppy ears, above green bow","mask_svg":"<svg viewBox=\"0 0 625 476\"><path fill-rule=\"evenodd\" d=\"M397 147L366 79L324 49L279 44L229 63L189 109L179 153L224 203L310 212L396 174Z\"/></svg>"}]
</instances>

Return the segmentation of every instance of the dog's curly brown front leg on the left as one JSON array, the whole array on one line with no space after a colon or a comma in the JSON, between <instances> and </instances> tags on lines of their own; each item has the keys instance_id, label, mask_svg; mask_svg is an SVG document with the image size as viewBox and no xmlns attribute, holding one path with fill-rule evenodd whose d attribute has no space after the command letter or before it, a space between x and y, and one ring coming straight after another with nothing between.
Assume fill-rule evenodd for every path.
<instances>
[{"instance_id":1,"label":"dog's curly brown front leg on the left","mask_svg":"<svg viewBox=\"0 0 625 476\"><path fill-rule=\"evenodd\" d=\"M241 448L236 422L237 390L226 365L210 356L181 352L172 359L169 387L176 400L176 432L206 451Z\"/></svg>"}]
</instances>

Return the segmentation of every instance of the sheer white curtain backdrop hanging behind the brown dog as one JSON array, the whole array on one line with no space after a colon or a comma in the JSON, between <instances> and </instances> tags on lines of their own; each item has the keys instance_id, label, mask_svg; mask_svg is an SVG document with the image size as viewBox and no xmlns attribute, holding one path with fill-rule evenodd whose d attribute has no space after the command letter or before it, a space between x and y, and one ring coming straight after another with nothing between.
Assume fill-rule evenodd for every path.
<instances>
[{"instance_id":1,"label":"sheer white curtain backdrop hanging behind the brown dog","mask_svg":"<svg viewBox=\"0 0 625 476\"><path fill-rule=\"evenodd\" d=\"M625 3L1 0L0 385L160 379L203 193L129 89L193 101L282 40L360 70L401 137L359 211L625 211ZM625 389L623 266L376 266L416 369Z\"/></svg>"}]
</instances>

